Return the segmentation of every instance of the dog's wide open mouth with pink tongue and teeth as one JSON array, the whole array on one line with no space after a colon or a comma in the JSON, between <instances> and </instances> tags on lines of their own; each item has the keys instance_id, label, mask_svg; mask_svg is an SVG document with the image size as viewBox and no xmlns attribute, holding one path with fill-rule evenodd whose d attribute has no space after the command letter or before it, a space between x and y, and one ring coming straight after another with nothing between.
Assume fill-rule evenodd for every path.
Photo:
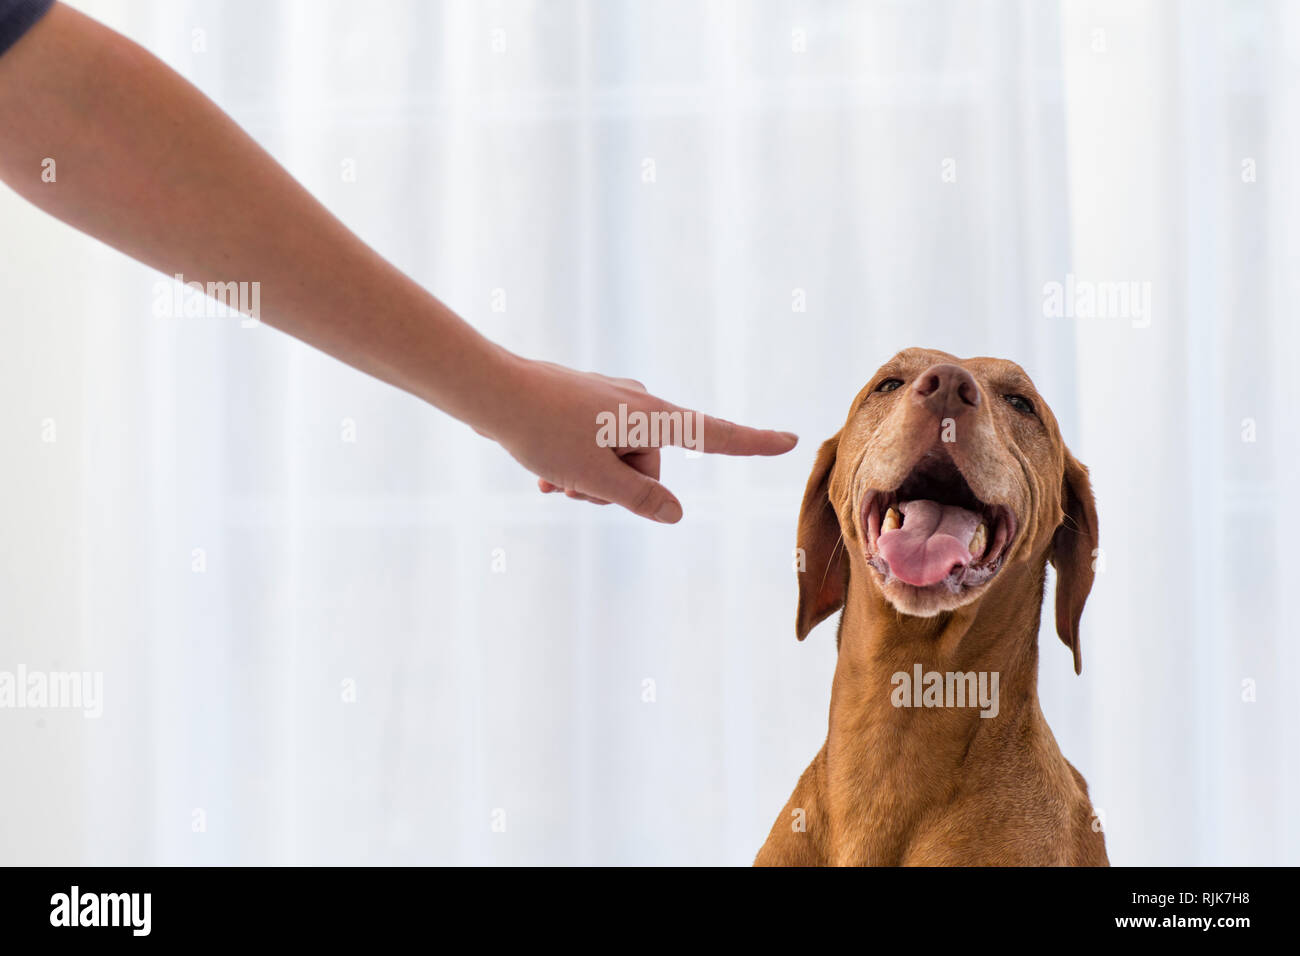
<instances>
[{"instance_id":1,"label":"dog's wide open mouth with pink tongue and teeth","mask_svg":"<svg viewBox=\"0 0 1300 956\"><path fill-rule=\"evenodd\" d=\"M954 593L993 578L1015 536L1013 511L980 501L942 447L896 489L868 490L862 520L867 559L885 584Z\"/></svg>"}]
</instances>

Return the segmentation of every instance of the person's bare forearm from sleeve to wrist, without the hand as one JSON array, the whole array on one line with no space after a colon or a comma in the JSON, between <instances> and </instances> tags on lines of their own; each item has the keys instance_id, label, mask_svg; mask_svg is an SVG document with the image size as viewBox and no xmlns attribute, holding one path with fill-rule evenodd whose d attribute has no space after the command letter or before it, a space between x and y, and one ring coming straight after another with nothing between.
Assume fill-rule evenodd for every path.
<instances>
[{"instance_id":1,"label":"person's bare forearm from sleeve to wrist, without the hand","mask_svg":"<svg viewBox=\"0 0 1300 956\"><path fill-rule=\"evenodd\" d=\"M169 276L259 282L266 324L493 429L497 389L484 385L508 373L507 352L350 233L187 81L70 8L0 57L0 178Z\"/></svg>"}]
</instances>

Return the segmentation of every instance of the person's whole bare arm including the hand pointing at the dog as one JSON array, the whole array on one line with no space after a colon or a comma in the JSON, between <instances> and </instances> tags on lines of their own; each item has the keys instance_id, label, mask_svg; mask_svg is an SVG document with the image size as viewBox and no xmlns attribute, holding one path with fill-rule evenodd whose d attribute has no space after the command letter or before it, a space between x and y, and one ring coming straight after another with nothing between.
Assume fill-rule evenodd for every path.
<instances>
[{"instance_id":1,"label":"person's whole bare arm including the hand pointing at the dog","mask_svg":"<svg viewBox=\"0 0 1300 956\"><path fill-rule=\"evenodd\" d=\"M681 518L658 481L660 441L615 447L599 437L615 410L692 415L690 446L702 451L779 455L797 441L493 345L352 235L190 83L66 7L0 56L0 178L166 274L257 282L259 319L495 438L543 492ZM663 441L688 436L679 428Z\"/></svg>"}]
</instances>

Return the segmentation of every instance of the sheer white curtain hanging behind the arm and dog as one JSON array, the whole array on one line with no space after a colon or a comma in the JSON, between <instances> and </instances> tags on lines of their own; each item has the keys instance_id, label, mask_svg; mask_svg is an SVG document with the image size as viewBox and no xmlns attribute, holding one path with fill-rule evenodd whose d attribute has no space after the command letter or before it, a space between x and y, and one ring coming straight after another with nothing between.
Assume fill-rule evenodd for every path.
<instances>
[{"instance_id":1,"label":"sheer white curtain hanging behind the arm and dog","mask_svg":"<svg viewBox=\"0 0 1300 956\"><path fill-rule=\"evenodd\" d=\"M802 444L668 454L673 528L543 498L0 194L0 670L104 675L0 710L0 862L749 862L826 734L803 479L909 345L1022 363L1092 468L1040 695L1112 861L1300 862L1291 5L75 5L489 336Z\"/></svg>"}]
</instances>

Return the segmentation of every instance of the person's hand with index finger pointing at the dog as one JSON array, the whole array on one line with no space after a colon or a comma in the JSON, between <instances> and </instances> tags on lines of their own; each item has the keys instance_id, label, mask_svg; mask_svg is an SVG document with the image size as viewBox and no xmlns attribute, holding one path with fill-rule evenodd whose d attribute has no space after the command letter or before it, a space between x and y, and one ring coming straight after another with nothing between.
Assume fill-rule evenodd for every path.
<instances>
[{"instance_id":1,"label":"person's hand with index finger pointing at the dog","mask_svg":"<svg viewBox=\"0 0 1300 956\"><path fill-rule=\"evenodd\" d=\"M681 520L681 503L659 484L660 445L723 455L781 455L798 442L789 432L746 428L681 408L632 378L517 356L511 356L508 368L508 398L494 415L498 424L480 431L537 475L542 492L564 492L594 505L612 502L664 524ZM651 424L637 436L637 414L650 421L659 414L659 423L676 414L672 421L681 427ZM611 420L632 427L602 429L602 421Z\"/></svg>"}]
</instances>

